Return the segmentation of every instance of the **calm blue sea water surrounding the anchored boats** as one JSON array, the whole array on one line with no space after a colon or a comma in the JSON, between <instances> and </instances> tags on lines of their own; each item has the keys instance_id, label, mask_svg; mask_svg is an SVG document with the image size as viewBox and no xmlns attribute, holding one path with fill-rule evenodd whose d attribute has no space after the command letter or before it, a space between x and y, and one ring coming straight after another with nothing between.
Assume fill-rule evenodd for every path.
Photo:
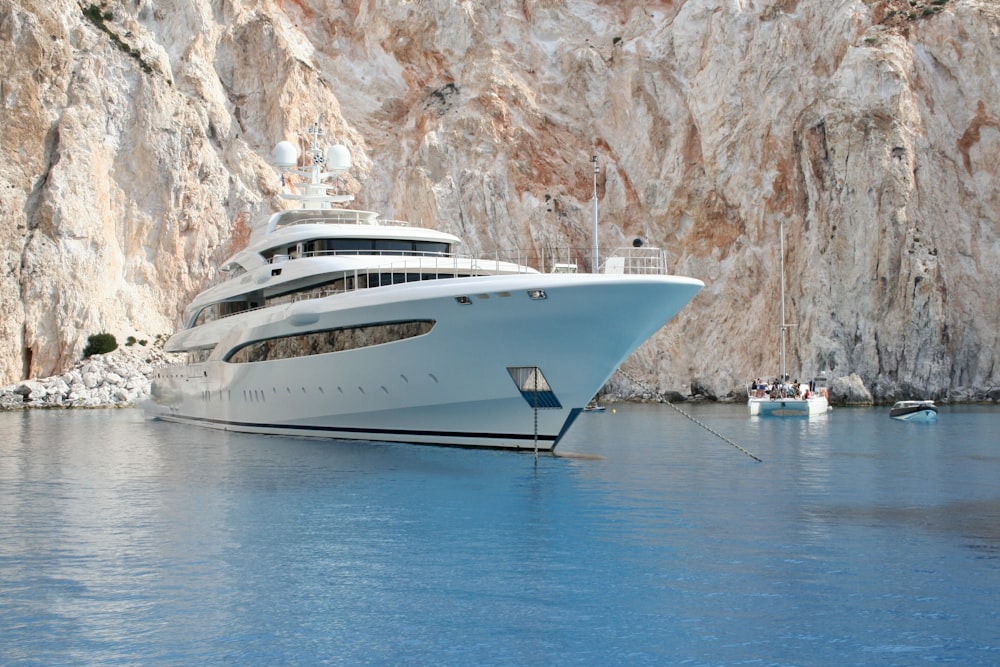
<instances>
[{"instance_id":1,"label":"calm blue sea water surrounding the anchored boats","mask_svg":"<svg viewBox=\"0 0 1000 667\"><path fill-rule=\"evenodd\" d=\"M1000 409L583 414L563 456L0 413L3 665L998 665Z\"/></svg>"}]
</instances>

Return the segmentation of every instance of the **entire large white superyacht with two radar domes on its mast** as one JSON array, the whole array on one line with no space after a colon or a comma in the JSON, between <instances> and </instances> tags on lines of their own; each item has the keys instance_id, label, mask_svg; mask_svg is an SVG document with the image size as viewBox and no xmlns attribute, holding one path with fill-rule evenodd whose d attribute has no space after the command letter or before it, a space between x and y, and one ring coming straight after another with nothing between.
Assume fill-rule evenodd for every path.
<instances>
[{"instance_id":1,"label":"entire large white superyacht with two radar domes on its mast","mask_svg":"<svg viewBox=\"0 0 1000 667\"><path fill-rule=\"evenodd\" d=\"M304 179L199 294L154 377L154 415L293 436L550 451L615 369L703 287L634 248L604 273L540 272L346 208L350 168L313 128ZM595 199L596 202L596 199ZM610 271L610 272L609 272Z\"/></svg>"}]
</instances>

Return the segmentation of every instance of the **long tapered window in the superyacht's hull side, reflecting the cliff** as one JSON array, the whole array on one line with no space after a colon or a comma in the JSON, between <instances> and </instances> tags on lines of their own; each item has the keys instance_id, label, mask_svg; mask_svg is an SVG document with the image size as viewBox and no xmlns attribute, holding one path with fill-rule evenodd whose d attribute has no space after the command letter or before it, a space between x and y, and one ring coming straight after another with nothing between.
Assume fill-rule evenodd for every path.
<instances>
[{"instance_id":1,"label":"long tapered window in the superyacht's hull side, reflecting the cliff","mask_svg":"<svg viewBox=\"0 0 1000 667\"><path fill-rule=\"evenodd\" d=\"M356 350L423 336L433 327L434 322L430 320L411 320L279 336L236 348L226 356L225 360L233 364L242 364Z\"/></svg>"}]
</instances>

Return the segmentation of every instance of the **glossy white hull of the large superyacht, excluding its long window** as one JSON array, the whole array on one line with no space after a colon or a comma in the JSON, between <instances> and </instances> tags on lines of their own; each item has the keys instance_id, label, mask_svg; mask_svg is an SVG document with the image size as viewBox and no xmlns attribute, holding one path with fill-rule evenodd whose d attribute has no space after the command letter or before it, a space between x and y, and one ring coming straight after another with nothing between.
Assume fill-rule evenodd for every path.
<instances>
[{"instance_id":1,"label":"glossy white hull of the large superyacht, excluding its long window","mask_svg":"<svg viewBox=\"0 0 1000 667\"><path fill-rule=\"evenodd\" d=\"M702 287L675 276L531 274L433 280L235 315L177 334L214 347L154 379L154 416L217 429L548 451L636 347ZM233 363L247 342L371 323L423 335ZM537 368L547 391L519 387Z\"/></svg>"}]
</instances>

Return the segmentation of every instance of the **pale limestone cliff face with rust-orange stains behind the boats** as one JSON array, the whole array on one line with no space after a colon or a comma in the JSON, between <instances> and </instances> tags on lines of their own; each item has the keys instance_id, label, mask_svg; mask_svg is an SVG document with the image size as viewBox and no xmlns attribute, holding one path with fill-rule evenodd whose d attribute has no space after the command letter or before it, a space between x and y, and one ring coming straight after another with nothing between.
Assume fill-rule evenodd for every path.
<instances>
[{"instance_id":1,"label":"pale limestone cliff face with rust-orange stains behind the boats","mask_svg":"<svg viewBox=\"0 0 1000 667\"><path fill-rule=\"evenodd\" d=\"M783 225L790 373L976 397L998 71L992 0L0 0L0 384L171 332L318 120L362 206L587 269L597 155L602 250L706 283L626 362L657 390L778 372Z\"/></svg>"}]
</instances>

